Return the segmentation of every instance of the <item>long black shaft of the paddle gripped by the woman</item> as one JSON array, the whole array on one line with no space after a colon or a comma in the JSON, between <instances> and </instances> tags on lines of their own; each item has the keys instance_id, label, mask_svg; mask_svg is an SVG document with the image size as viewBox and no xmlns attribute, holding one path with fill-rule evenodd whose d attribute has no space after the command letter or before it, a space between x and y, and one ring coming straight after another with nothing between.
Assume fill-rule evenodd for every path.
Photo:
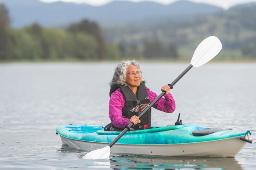
<instances>
[{"instance_id":1,"label":"long black shaft of the paddle gripped by the woman","mask_svg":"<svg viewBox=\"0 0 256 170\"><path fill-rule=\"evenodd\" d=\"M173 83L168 84L168 86L170 86L170 88L172 89L173 86L178 82L178 80L180 80L192 67L193 67L193 65L190 64L190 65L187 67L187 69L184 70L184 71L180 74L180 76L178 76L178 77L173 81ZM159 99L161 99L165 93L166 93L166 92L163 91L159 96L157 96L157 98L155 98L155 100L153 100L153 101L148 105L148 107L147 107L141 114L139 114L138 117L141 118L145 113L147 113L147 111L148 111L152 106L154 106L154 104L155 104ZM130 130L130 127L132 127L132 126L133 126L133 123L130 123L127 127L125 127L125 128L123 129L123 131L122 131L111 143L109 143L108 146L111 148L128 130Z\"/></svg>"}]
</instances>

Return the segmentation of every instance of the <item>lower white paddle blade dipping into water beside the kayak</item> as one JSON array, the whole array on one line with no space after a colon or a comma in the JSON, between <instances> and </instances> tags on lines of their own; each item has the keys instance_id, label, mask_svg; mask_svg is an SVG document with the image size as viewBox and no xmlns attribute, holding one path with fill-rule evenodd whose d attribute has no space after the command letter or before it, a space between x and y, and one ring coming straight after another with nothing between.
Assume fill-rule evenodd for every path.
<instances>
[{"instance_id":1,"label":"lower white paddle blade dipping into water beside the kayak","mask_svg":"<svg viewBox=\"0 0 256 170\"><path fill-rule=\"evenodd\" d=\"M101 149L90 151L82 158L88 159L88 160L99 160L99 159L109 159L109 157L110 157L110 147L106 146Z\"/></svg>"}]
</instances>

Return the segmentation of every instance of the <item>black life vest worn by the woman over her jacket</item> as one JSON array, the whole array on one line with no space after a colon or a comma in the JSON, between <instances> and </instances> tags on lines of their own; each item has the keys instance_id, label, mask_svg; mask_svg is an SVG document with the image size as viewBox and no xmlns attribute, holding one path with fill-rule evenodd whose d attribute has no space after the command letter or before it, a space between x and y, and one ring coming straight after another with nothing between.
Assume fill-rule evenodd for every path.
<instances>
[{"instance_id":1,"label":"black life vest worn by the woman over her jacket","mask_svg":"<svg viewBox=\"0 0 256 170\"><path fill-rule=\"evenodd\" d=\"M150 104L145 85L141 84L138 86L137 95L135 95L128 86L116 85L110 89L110 95L117 88L120 88L125 100L125 105L122 108L123 118L130 119L133 115L138 116ZM131 128L135 130L151 128L151 108L142 116L141 122Z\"/></svg>"}]
</instances>

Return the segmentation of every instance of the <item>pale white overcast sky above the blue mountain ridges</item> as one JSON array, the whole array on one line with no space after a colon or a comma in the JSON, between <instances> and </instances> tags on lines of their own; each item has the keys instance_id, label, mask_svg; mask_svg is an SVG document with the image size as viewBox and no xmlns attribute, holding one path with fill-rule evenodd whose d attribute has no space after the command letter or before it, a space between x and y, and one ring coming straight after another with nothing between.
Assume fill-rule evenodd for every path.
<instances>
[{"instance_id":1,"label":"pale white overcast sky above the blue mountain ridges","mask_svg":"<svg viewBox=\"0 0 256 170\"><path fill-rule=\"evenodd\" d=\"M113 0L40 0L42 2L55 2L55 1L64 1L64 2L74 2L74 3L87 3L93 6L104 5L109 3ZM119 0L122 1L122 0ZM133 2L140 2L140 1L154 1L158 3L162 3L164 5L168 5L173 3L177 0L126 0L126 1L133 1ZM247 3L247 2L256 2L256 0L190 0L196 3L208 3L211 5L219 6L224 9L228 9L231 6L240 4L240 3Z\"/></svg>"}]
</instances>

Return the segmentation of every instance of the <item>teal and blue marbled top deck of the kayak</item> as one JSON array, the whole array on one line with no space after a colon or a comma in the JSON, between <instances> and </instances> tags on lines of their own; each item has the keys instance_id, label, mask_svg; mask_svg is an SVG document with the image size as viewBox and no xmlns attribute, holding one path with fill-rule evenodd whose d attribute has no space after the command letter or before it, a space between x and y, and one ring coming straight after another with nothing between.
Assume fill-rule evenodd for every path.
<instances>
[{"instance_id":1,"label":"teal and blue marbled top deck of the kayak","mask_svg":"<svg viewBox=\"0 0 256 170\"><path fill-rule=\"evenodd\" d=\"M196 130L207 129L208 127L195 124L177 126L152 126L151 129L133 130L126 132L117 143L119 144L179 144L206 142L213 140L227 139L230 137L243 136L246 132L222 130L204 136L194 136ZM70 139L110 143L120 132L104 131L103 126L93 125L60 125L57 127L58 134Z\"/></svg>"}]
</instances>

